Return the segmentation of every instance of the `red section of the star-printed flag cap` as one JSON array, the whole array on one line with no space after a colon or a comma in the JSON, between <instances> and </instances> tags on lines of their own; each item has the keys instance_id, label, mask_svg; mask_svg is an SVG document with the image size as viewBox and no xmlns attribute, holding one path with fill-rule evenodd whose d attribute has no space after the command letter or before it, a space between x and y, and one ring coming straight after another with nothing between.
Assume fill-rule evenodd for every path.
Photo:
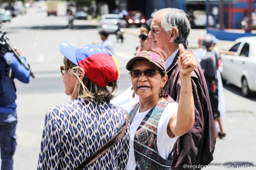
<instances>
[{"instance_id":1,"label":"red section of the star-printed flag cap","mask_svg":"<svg viewBox=\"0 0 256 170\"><path fill-rule=\"evenodd\" d=\"M116 63L108 54L94 54L79 61L78 64L84 68L86 77L100 87L106 87L109 82L119 78Z\"/></svg>"}]
</instances>

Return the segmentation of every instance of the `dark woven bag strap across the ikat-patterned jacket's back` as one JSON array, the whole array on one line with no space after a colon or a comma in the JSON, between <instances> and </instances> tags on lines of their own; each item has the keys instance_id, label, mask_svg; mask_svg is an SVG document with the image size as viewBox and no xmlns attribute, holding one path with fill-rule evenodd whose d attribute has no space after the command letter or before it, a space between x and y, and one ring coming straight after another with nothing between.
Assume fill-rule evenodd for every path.
<instances>
[{"instance_id":1,"label":"dark woven bag strap across the ikat-patterned jacket's back","mask_svg":"<svg viewBox=\"0 0 256 170\"><path fill-rule=\"evenodd\" d=\"M96 161L98 158L100 158L102 155L108 152L108 150L111 147L113 147L116 143L118 143L120 139L124 136L124 133L126 132L128 122L129 122L128 120L129 120L129 114L126 111L126 123L118 131L118 133L116 133L107 143L105 143L98 150L96 150L84 162L82 162L75 170L83 170L86 166L92 164L94 161Z\"/></svg>"}]
</instances>

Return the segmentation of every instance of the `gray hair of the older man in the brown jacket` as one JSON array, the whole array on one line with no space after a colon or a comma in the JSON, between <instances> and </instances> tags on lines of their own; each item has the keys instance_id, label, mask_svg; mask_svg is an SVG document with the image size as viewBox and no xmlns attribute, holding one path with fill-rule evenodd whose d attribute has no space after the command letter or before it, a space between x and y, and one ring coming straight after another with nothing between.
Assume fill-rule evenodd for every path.
<instances>
[{"instance_id":1,"label":"gray hair of the older man in the brown jacket","mask_svg":"<svg viewBox=\"0 0 256 170\"><path fill-rule=\"evenodd\" d=\"M177 8L164 8L158 10L155 16L160 13L164 13L164 17L161 21L161 25L164 28L164 31L168 32L175 27L178 29L178 35L174 40L174 43L177 45L183 44L187 46L187 38L191 29L188 14Z\"/></svg>"}]
</instances>

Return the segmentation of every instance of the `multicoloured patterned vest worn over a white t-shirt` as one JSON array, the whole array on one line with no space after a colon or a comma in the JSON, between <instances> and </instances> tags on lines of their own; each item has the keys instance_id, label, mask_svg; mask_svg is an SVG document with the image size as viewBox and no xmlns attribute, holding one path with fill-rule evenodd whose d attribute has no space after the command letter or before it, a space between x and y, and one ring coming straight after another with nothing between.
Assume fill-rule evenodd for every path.
<instances>
[{"instance_id":1,"label":"multicoloured patterned vest worn over a white t-shirt","mask_svg":"<svg viewBox=\"0 0 256 170\"><path fill-rule=\"evenodd\" d=\"M160 102L150 109L148 114L140 123L140 126L134 135L136 169L170 170L173 150L170 157L166 160L160 156L156 145L158 123L164 108L170 102L174 102L174 100L168 95L168 98L164 102ZM136 111L134 108L136 108L138 104L139 102L132 107L129 113L130 116L133 111Z\"/></svg>"}]
</instances>

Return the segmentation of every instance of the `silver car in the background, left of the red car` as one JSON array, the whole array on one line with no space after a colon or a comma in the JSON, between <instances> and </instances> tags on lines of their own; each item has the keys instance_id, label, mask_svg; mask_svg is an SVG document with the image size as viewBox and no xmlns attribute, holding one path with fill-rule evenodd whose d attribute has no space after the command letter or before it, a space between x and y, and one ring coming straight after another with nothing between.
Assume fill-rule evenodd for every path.
<instances>
[{"instance_id":1,"label":"silver car in the background, left of the red car","mask_svg":"<svg viewBox=\"0 0 256 170\"><path fill-rule=\"evenodd\" d=\"M118 29L118 23L123 27L127 26L126 20L120 18L118 14L103 14L98 23L98 31L107 31L108 33L115 33Z\"/></svg>"}]
</instances>

